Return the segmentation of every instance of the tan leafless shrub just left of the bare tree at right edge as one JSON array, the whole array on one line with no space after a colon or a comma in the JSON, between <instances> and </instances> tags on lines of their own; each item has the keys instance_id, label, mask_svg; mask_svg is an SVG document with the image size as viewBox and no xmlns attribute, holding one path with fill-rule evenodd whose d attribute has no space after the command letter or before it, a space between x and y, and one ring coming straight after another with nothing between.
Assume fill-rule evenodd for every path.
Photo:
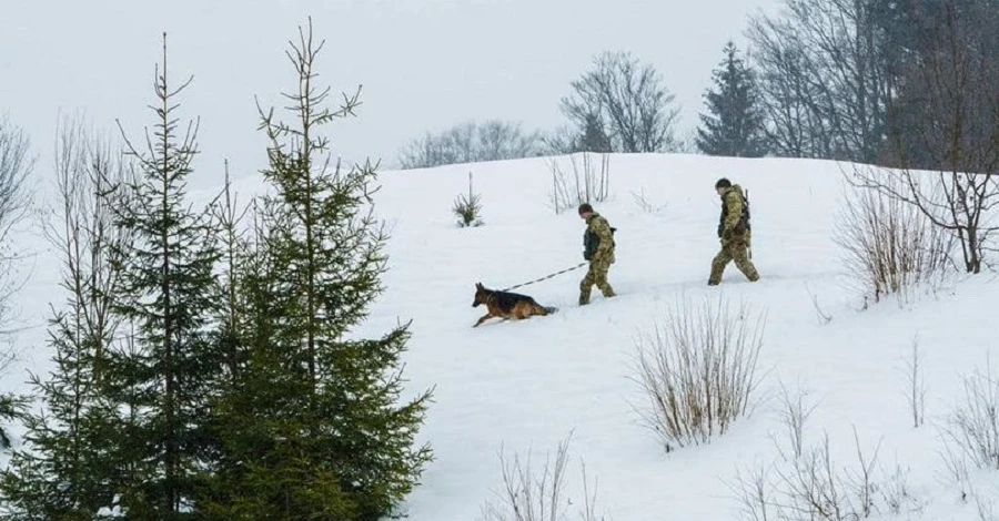
<instances>
[{"instance_id":1,"label":"tan leafless shrub just left of the bare tree at right edge","mask_svg":"<svg viewBox=\"0 0 999 521\"><path fill-rule=\"evenodd\" d=\"M880 178L874 172L864 175ZM898 184L891 176L879 182ZM944 274L952 246L950 235L934 226L919 208L860 186L846 194L834 239L842 248L844 267L856 289L865 302L870 298L875 303L887 295L906 298L914 286Z\"/></svg>"}]
</instances>

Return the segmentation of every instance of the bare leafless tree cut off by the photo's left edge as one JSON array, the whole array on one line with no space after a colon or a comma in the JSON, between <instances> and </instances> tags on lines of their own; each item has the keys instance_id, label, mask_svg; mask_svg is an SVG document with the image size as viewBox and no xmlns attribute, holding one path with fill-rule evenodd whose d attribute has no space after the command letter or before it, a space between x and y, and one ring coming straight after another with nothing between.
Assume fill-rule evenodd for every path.
<instances>
[{"instance_id":1,"label":"bare leafless tree cut off by the photo's left edge","mask_svg":"<svg viewBox=\"0 0 999 521\"><path fill-rule=\"evenodd\" d=\"M20 289L21 249L12 233L24 221L31 204L27 178L34 168L29 140L8 116L0 118L0 336L11 331L11 297Z\"/></svg>"}]
</instances>

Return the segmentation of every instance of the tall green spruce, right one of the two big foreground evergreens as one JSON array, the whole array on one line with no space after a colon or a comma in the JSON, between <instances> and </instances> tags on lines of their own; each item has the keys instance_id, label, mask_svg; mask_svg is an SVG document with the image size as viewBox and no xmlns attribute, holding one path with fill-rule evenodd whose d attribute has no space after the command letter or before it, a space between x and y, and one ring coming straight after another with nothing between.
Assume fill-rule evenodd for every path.
<instances>
[{"instance_id":1,"label":"tall green spruce, right one of the two big foreground evergreens","mask_svg":"<svg viewBox=\"0 0 999 521\"><path fill-rule=\"evenodd\" d=\"M408 324L381 338L351 329L383 290L387 237L369 207L375 168L330 164L319 126L353 115L314 85L312 24L287 53L299 73L294 126L261 111L270 140L238 288L245 366L216 409L229 415L215 519L377 520L394 513L431 459L414 447L430 392L397 403ZM365 211L367 210L367 211Z\"/></svg>"}]
</instances>

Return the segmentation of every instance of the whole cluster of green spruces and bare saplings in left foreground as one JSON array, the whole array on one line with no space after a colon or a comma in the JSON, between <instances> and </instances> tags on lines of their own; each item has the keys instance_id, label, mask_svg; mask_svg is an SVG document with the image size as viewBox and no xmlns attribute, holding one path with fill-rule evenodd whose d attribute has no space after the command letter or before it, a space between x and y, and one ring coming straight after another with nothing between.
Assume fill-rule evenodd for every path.
<instances>
[{"instance_id":1,"label":"whole cluster of green spruces and bare saplings in left foreground","mask_svg":"<svg viewBox=\"0 0 999 521\"><path fill-rule=\"evenodd\" d=\"M145 132L61 122L43 219L64 297L54 370L0 399L26 431L0 471L4 519L373 521L418 483L432 390L401 399L408 323L352 330L383 290L387 236L375 167L331 163L323 126L353 116L360 91L329 105L322 47L311 20L290 42L291 118L259 108L272 190L245 205L228 162L211 202L185 191L199 121L182 118L192 79L174 80L165 34ZM10 186L24 141L0 136Z\"/></svg>"}]
</instances>

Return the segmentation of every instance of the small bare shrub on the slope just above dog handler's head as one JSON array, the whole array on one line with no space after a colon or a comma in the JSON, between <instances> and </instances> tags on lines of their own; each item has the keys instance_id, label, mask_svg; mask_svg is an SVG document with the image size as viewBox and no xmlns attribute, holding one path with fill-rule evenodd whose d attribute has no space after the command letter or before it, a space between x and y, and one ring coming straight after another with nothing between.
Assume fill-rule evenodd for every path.
<instances>
[{"instance_id":1,"label":"small bare shrub on the slope just above dog handler's head","mask_svg":"<svg viewBox=\"0 0 999 521\"><path fill-rule=\"evenodd\" d=\"M576 208L583 203L602 203L607 200L610 186L610 155L599 154L599 171L594 165L589 152L568 156L572 176L559 165L559 160L549 162L552 170L552 205L556 214Z\"/></svg>"}]
</instances>

